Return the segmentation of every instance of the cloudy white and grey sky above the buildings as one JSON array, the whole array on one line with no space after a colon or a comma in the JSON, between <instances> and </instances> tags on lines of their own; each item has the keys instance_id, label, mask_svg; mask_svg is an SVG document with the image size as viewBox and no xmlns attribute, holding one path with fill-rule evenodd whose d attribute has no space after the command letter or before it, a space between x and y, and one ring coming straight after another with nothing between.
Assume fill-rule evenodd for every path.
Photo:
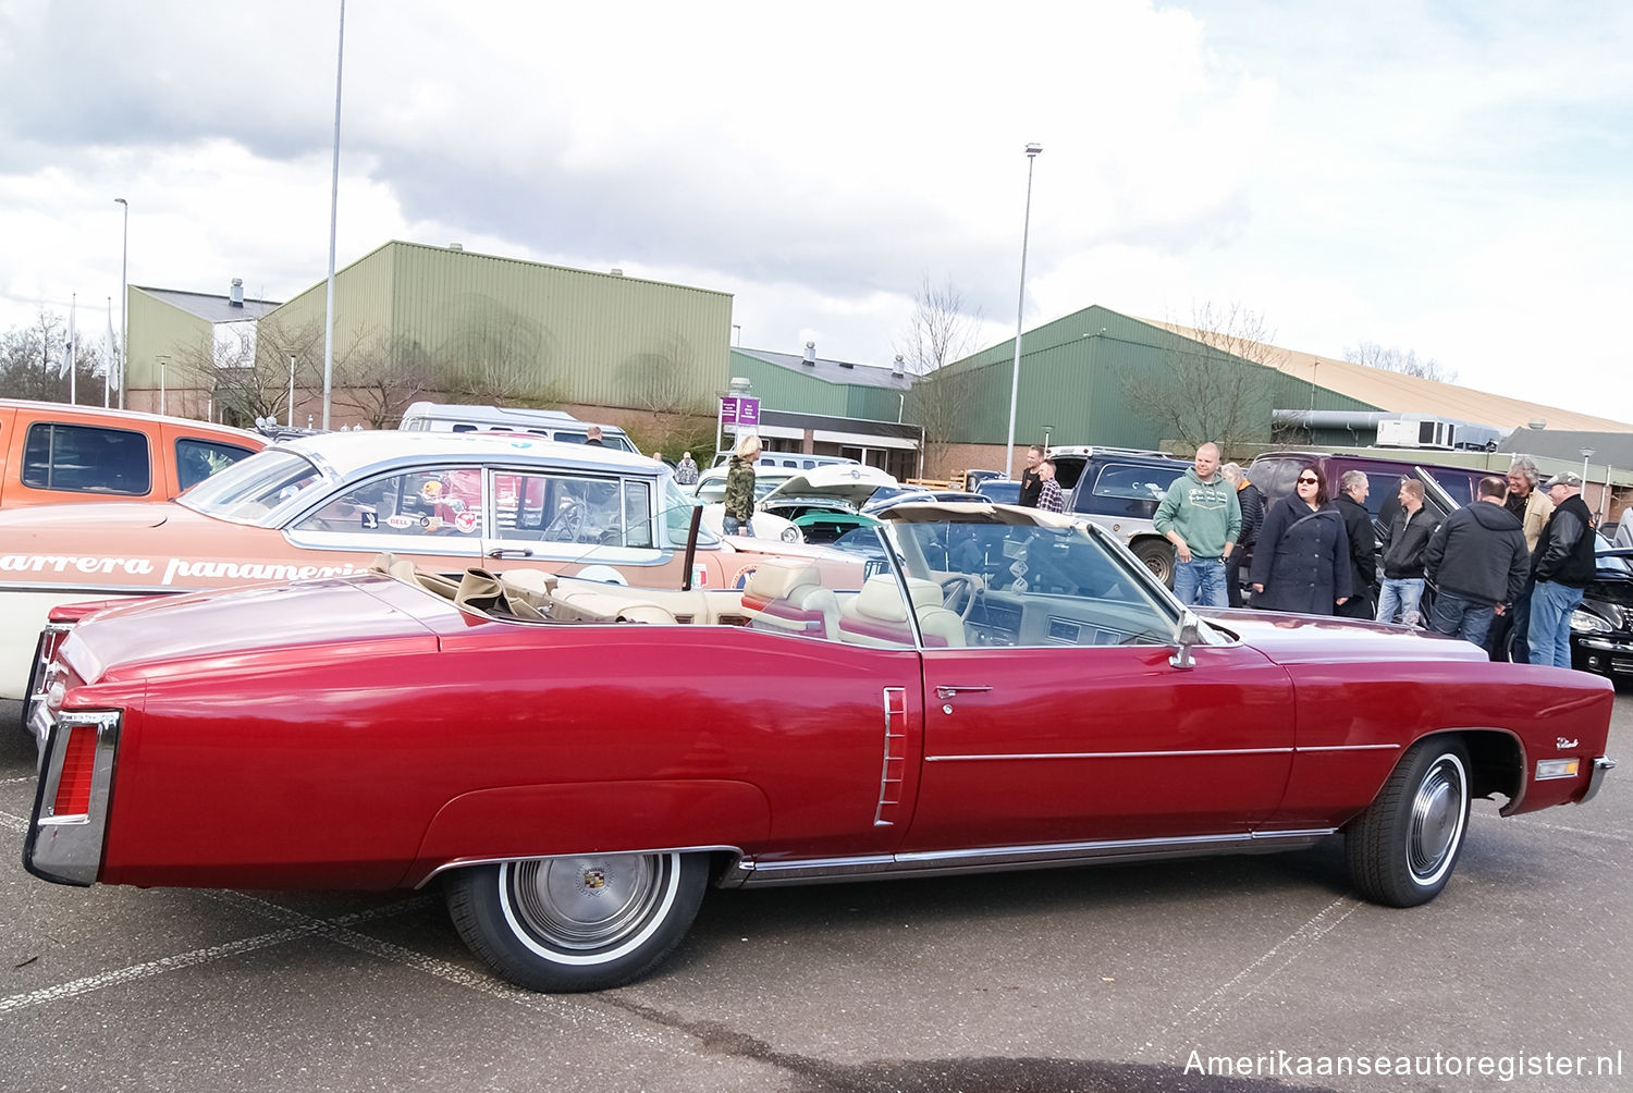
<instances>
[{"instance_id":1,"label":"cloudy white and grey sky above the buildings","mask_svg":"<svg viewBox=\"0 0 1633 1093\"><path fill-rule=\"evenodd\" d=\"M888 363L1102 304L1259 312L1633 422L1633 5L346 5L338 263L390 239L735 294ZM338 0L0 0L0 330L323 279ZM101 322L93 319L93 322Z\"/></svg>"}]
</instances>

